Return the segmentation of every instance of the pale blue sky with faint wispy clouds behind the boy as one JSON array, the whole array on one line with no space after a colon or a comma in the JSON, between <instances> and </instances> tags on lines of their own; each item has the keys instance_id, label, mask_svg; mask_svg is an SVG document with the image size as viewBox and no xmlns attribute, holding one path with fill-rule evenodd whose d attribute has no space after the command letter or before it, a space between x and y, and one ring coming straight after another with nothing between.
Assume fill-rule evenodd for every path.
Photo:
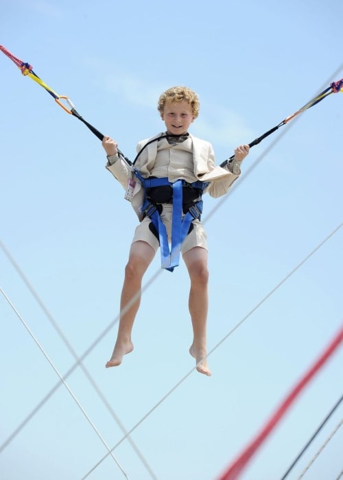
<instances>
[{"instance_id":1,"label":"pale blue sky with faint wispy clouds behind the boy","mask_svg":"<svg viewBox=\"0 0 343 480\"><path fill-rule=\"evenodd\" d=\"M343 77L342 16L341 3L309 0L12 0L1 8L0 43L131 159L140 139L163 130L160 93L193 88L201 106L191 132L213 143L221 163ZM1 445L59 381L20 318L62 376L75 364L64 340L76 357L92 346L69 389L56 389L3 448L1 478L82 479L106 455L99 435L110 448L123 437L117 418L126 431L139 424L136 449L125 440L113 451L131 480L217 479L342 324L343 95L252 148L226 197L204 197L207 378L191 372L185 265L161 271L159 255L145 277L134 352L104 368L137 219L99 140L3 55L0 69ZM241 479L281 479L342 395L342 360L341 348ZM342 406L288 479L341 418ZM305 479L338 478L342 435ZM125 477L107 457L87 478Z\"/></svg>"}]
</instances>

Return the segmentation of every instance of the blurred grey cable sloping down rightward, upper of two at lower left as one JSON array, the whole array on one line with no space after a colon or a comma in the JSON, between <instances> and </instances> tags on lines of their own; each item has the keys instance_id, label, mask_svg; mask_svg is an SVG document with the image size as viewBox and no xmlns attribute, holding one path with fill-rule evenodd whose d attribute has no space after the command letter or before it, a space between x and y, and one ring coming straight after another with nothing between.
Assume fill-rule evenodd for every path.
<instances>
[{"instance_id":1,"label":"blurred grey cable sloping down rightward, upper of two at lower left","mask_svg":"<svg viewBox=\"0 0 343 480\"><path fill-rule=\"evenodd\" d=\"M119 417L117 416L117 414L115 413L115 411L113 410L113 408L111 407L110 403L108 403L108 400L106 399L106 397L104 396L104 394L102 393L102 390L100 389L100 387L97 385L97 383L95 382L95 380L93 379L93 377L91 376L91 374L89 373L88 369L86 368L86 366L84 365L84 363L82 363L82 361L80 360L80 357L78 357L78 354L75 352L73 346L71 346L69 340L67 339L67 337L64 335L64 333L62 332L62 330L60 329L60 327L58 326L58 323L56 322L56 320L54 319L54 317L51 315L51 313L49 312L49 310L47 309L47 307L45 306L45 304L43 303L43 300L41 300L41 298L38 296L38 293L36 292L36 290L34 289L34 287L32 286L31 283L29 283L29 280L27 279L27 277L25 276L25 274L23 273L23 270L19 267L18 263L16 263L16 261L14 260L13 256L10 254L10 251L8 250L8 248L5 247L5 245L3 244L3 242L1 241L0 239L0 248L3 250L5 256L7 257L7 259L10 261L10 263L12 264L12 266L14 267L14 269L16 270L17 274L19 274L20 278L23 280L23 283L25 283L27 289L29 290L29 292L32 294L32 296L34 297L34 299L36 300L36 302L38 303L40 309L43 310L43 312L45 313L47 319L49 320L49 322L51 323L51 325L54 327L55 331L58 333L58 335L60 336L60 338L62 339L62 341L64 342L65 346L67 346L69 352L71 353L71 355L74 357L75 361L78 362L78 365L80 366L80 368L82 369L82 372L84 372L84 375L86 376L86 378L88 379L88 381L91 383L93 389L95 390L95 392L98 394L99 398L101 398L102 402L104 403L104 405L106 406L106 408L108 409L108 411L110 412L110 414L113 416L113 418L115 419L115 422L117 422L117 425L119 426L119 428L121 429L121 432L124 434L124 435L127 435L127 431L126 431L126 428L123 426L123 424L121 423L121 420L119 419ZM132 438L128 435L128 442L130 443L130 445L132 446L133 450L135 451L135 453L137 453L137 456L139 457L139 459L141 459L143 465L145 466L145 468L147 469L147 471L150 473L150 476L152 477L152 479L156 480L156 475L154 474L154 472L152 471L152 468L150 467L150 465L147 463L145 457L142 455L141 451L139 451L139 448L137 447L136 444L134 444ZM0 448L0 451L3 449L3 446L1 446Z\"/></svg>"}]
</instances>

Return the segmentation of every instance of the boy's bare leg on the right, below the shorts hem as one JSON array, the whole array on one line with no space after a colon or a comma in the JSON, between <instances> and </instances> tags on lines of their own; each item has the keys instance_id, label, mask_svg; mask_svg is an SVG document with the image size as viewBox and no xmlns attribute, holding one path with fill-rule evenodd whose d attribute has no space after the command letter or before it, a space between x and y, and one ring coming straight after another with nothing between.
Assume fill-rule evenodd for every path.
<instances>
[{"instance_id":1,"label":"boy's bare leg on the right, below the shorts hem","mask_svg":"<svg viewBox=\"0 0 343 480\"><path fill-rule=\"evenodd\" d=\"M206 358L206 320L209 309L207 250L201 247L191 248L183 255L183 259L191 279L189 313L193 326L193 344L189 352L196 359L198 372L210 376L211 370Z\"/></svg>"}]
</instances>

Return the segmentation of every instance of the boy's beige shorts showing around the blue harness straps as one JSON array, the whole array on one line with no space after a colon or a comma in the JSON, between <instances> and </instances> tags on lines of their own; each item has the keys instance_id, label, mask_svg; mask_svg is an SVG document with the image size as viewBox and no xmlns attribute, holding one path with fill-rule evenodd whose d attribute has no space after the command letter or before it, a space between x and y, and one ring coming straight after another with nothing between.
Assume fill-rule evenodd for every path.
<instances>
[{"instance_id":1,"label":"boy's beige shorts showing around the blue harness straps","mask_svg":"<svg viewBox=\"0 0 343 480\"><path fill-rule=\"evenodd\" d=\"M169 204L163 204L163 211L161 213L161 220L163 224L165 224L165 228L167 229L168 240L170 242L170 235L171 235L171 214L172 214L173 206ZM135 241L146 241L155 251L157 252L160 243L158 239L156 239L155 235L149 228L150 218L145 217L143 221L137 226L132 243ZM191 233L187 235L185 241L183 241L181 245L181 253L185 254L188 250L191 250L193 247L202 247L207 250L207 235L204 230L204 227L200 223L198 219L193 220L193 229Z\"/></svg>"}]
</instances>

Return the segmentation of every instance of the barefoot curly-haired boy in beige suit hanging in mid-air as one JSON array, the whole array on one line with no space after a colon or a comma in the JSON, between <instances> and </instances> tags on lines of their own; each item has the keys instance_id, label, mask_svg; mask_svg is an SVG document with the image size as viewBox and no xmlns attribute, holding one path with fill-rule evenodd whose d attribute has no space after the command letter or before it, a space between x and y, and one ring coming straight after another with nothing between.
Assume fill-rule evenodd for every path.
<instances>
[{"instance_id":1,"label":"barefoot curly-haired boy in beige suit hanging in mid-air","mask_svg":"<svg viewBox=\"0 0 343 480\"><path fill-rule=\"evenodd\" d=\"M159 134L139 143L137 146L139 156L134 165L136 171L132 172L132 168L128 166L122 156L119 156L116 141L110 139L109 136L104 136L102 141L108 160L106 168L127 189L132 207L141 221L134 233L130 248L121 291L121 314L117 341L113 354L106 363L106 368L119 365L123 356L133 350L131 332L141 300L141 281L163 241L161 231L156 231L158 225L160 230L166 229L169 242L174 242L172 238L174 224L179 221L177 218L179 215L173 216L173 209L174 213L176 211L174 188L176 184L180 185L179 181L182 180L180 217L183 219L188 211L191 211L193 217L191 217L188 235L186 232L185 238L182 238L182 242L179 241L180 245L176 245L175 250L177 254L179 248L182 253L191 280L189 313L193 327L193 343L189 352L196 359L198 372L211 376L206 359L207 284L209 278L207 244L206 232L198 214L203 191L208 192L212 197L220 197L238 178L241 173L241 161L248 154L249 146L237 147L233 161L226 167L215 166L211 143L188 133L189 125L198 117L199 107L198 95L187 87L169 88L160 96L158 111L161 119L165 122L167 131L165 134ZM150 180L151 178L162 178L166 184L158 187L151 187L149 184L151 188L146 189L145 179ZM156 182L156 180L154 181ZM142 208L144 202L152 206L153 215L149 214L148 208ZM193 209L189 208L189 205ZM194 212L196 213L194 214ZM156 215L159 215L157 220ZM172 232L173 235L171 235ZM165 250L165 245L162 244L161 250L162 246ZM174 261L172 257L173 255L170 255L171 262ZM165 267L172 271L174 263Z\"/></svg>"}]
</instances>

